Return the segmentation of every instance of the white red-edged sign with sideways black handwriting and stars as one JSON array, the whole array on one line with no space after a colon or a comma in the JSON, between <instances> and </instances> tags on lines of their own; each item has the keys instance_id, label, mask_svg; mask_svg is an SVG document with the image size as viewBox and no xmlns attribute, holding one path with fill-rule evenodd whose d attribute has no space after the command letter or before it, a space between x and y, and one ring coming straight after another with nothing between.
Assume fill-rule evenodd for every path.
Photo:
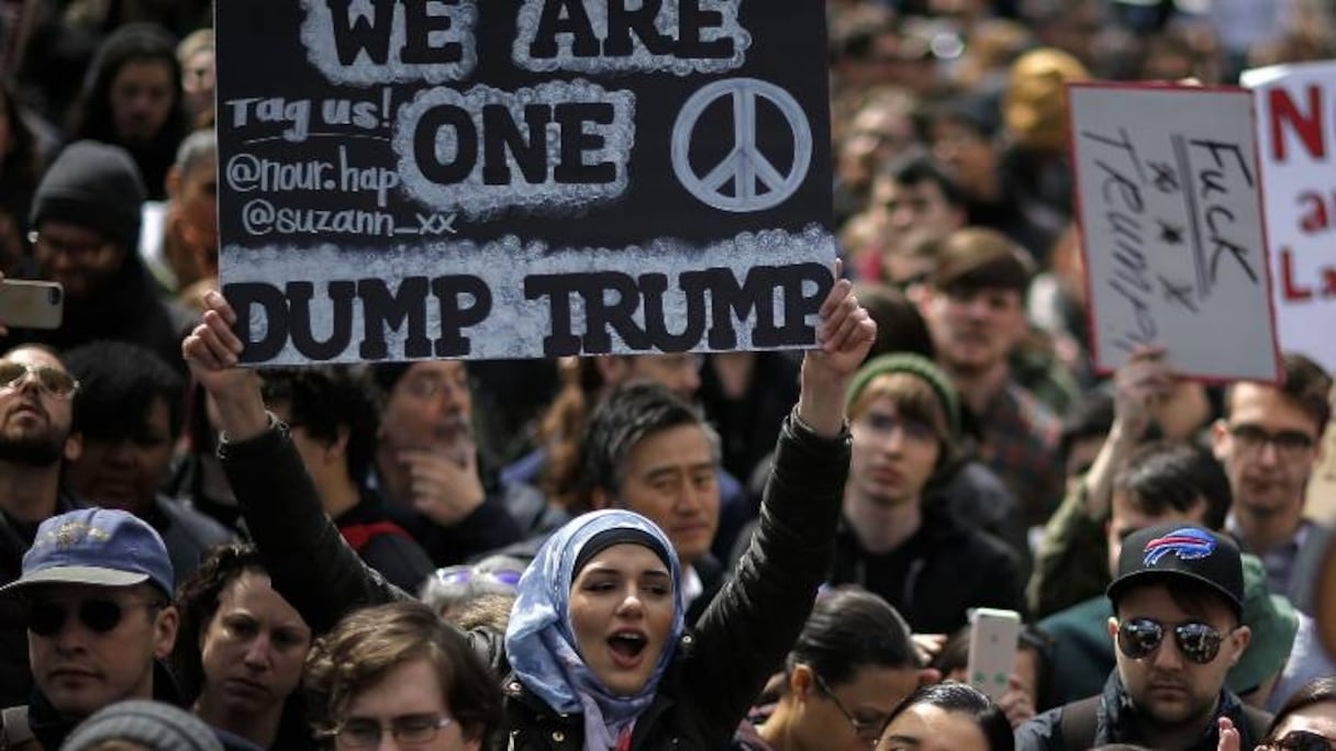
<instances>
[{"instance_id":1,"label":"white red-edged sign with sideways black handwriting and stars","mask_svg":"<svg viewBox=\"0 0 1336 751\"><path fill-rule=\"evenodd\" d=\"M1069 96L1097 367L1150 345L1189 377L1279 380L1249 92Z\"/></svg>"}]
</instances>

